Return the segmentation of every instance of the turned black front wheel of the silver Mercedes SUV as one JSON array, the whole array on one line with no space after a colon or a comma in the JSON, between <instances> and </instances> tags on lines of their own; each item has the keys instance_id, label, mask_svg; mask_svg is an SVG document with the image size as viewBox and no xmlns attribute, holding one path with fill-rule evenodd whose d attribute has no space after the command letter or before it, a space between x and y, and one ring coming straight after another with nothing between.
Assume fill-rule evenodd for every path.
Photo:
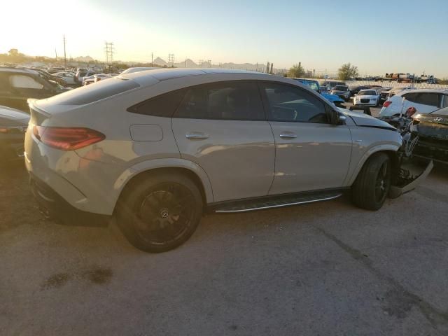
<instances>
[{"instance_id":1,"label":"turned black front wheel of the silver Mercedes SUV","mask_svg":"<svg viewBox=\"0 0 448 336\"><path fill-rule=\"evenodd\" d=\"M391 189L391 160L384 153L367 159L351 187L353 203L362 209L380 209Z\"/></svg>"}]
</instances>

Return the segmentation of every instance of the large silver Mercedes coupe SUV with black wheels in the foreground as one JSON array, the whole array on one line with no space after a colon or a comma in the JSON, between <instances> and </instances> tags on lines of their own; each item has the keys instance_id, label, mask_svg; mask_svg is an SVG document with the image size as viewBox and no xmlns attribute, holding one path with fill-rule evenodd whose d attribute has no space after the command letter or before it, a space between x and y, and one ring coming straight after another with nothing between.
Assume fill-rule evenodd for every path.
<instances>
[{"instance_id":1,"label":"large silver Mercedes coupe SUV with black wheels in the foreground","mask_svg":"<svg viewBox=\"0 0 448 336\"><path fill-rule=\"evenodd\" d=\"M377 210L400 134L264 73L162 69L29 102L25 164L49 216L113 217L144 251L183 244L204 212L332 200Z\"/></svg>"}]
</instances>

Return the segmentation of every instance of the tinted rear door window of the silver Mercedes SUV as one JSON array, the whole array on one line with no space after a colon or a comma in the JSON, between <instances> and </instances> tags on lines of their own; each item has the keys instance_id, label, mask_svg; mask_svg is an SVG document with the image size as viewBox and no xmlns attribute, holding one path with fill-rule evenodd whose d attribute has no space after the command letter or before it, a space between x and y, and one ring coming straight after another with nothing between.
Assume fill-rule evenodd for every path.
<instances>
[{"instance_id":1,"label":"tinted rear door window of the silver Mercedes SUV","mask_svg":"<svg viewBox=\"0 0 448 336\"><path fill-rule=\"evenodd\" d=\"M190 87L176 118L265 120L255 83L227 82Z\"/></svg>"}]
</instances>

